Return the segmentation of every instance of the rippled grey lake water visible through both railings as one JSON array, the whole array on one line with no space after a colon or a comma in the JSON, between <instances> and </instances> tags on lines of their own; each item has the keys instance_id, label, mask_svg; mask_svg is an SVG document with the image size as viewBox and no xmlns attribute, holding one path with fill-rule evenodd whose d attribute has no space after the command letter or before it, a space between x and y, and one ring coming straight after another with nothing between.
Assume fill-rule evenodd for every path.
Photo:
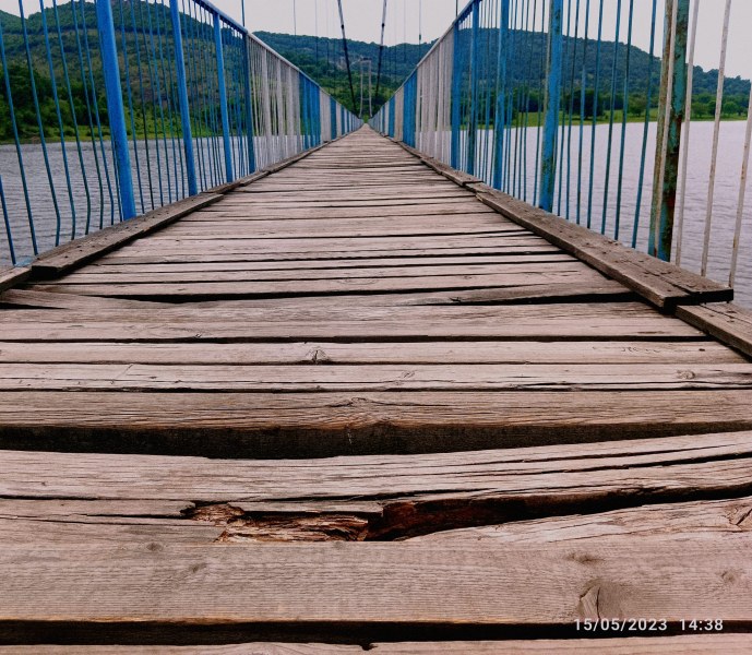
<instances>
[{"instance_id":1,"label":"rippled grey lake water visible through both railings","mask_svg":"<svg viewBox=\"0 0 752 655\"><path fill-rule=\"evenodd\" d=\"M649 225L649 210L652 199L653 186L653 155L655 153L655 123L649 128L647 157L644 174L643 195L641 202L640 225L637 229L637 247L641 250L646 249L647 231ZM742 160L742 144L744 139L745 126L741 121L728 121L721 124L719 157L717 164L717 177L715 187L715 196L713 204L713 221L712 221L712 241L709 250L708 275L718 282L728 282L729 262L731 257L731 243L733 240L733 227L737 213L737 200L739 194L739 178ZM589 186L589 152L590 152L590 129L586 129L583 134L583 152L584 165L582 171L582 203L581 203L581 221L584 223L587 211L587 188ZM619 238L625 243L629 243L632 238L632 229L634 225L636 198L638 188L640 174L640 155L642 148L642 123L629 123L626 127L626 140L624 151L624 169L621 179L622 188L622 203L621 203L621 219ZM518 134L511 133L511 139L517 138L518 142L523 142L523 131ZM284 139L284 138L283 138ZM446 147L449 135L443 134L428 134L423 135L425 145L433 150L437 145ZM607 164L607 143L608 143L608 126L598 126L596 128L596 147L595 147L595 175L593 179L593 226L600 229L601 217L604 212L604 190L606 187L606 164ZM566 180L569 175L569 217L574 219L577 214L576 201L576 186L577 186L577 153L578 153L578 129L575 127L572 130L572 157L571 169L568 166L563 167L562 175L562 198L560 213L566 215ZM526 147L526 166L525 176L517 180L517 188L522 191L521 195L527 194L527 200L532 201L535 186L535 152L536 152L536 130L530 128L527 130ZM697 272L700 270L700 261L702 255L703 230L705 225L706 202L707 202L707 184L711 165L711 148L713 142L713 123L712 122L695 122L691 127L690 151L689 151L689 167L687 178L687 201L684 210L684 228L682 239L682 259L681 265L690 271ZM235 144L240 147L240 144ZM606 203L606 234L613 237L616 204L617 204L617 189L619 183L619 145L620 145L620 128L614 127L613 144L611 152L611 168L609 175L609 194ZM489 140L490 146L490 140ZM220 183L224 181L224 160L222 159L222 150L214 147L210 140L198 140L196 158L203 157L206 186L213 183ZM263 139L256 139L255 143L258 153L267 153L265 158L276 160L288 156L296 152L298 143L294 140L282 141L276 138L276 141L266 142ZM484 142L484 133L481 132L478 140L478 154L484 152L486 144ZM57 218L55 209L51 202L49 182L45 168L41 147L39 145L23 145L24 166L26 168L27 183L29 196L32 199L32 210L34 213L34 223L36 228L37 243L40 251L47 250L55 246ZM142 171L146 172L146 163L152 170L152 187L146 182L146 176L143 176L143 183L139 191L136 187L136 209L142 207L141 198L143 195L144 209L148 211L152 209L152 198L154 198L154 205L167 203L170 198L172 200L182 198L184 189L182 183L182 168L180 166L179 157L180 143L176 140L175 148L170 140L166 143L159 142L159 148L155 142L144 144L139 143L139 158L141 162ZM148 153L146 152L148 150ZM75 234L81 236L85 231L87 221L87 204L86 193L81 176L81 167L79 164L79 155L75 150L75 144L67 144L69 166L72 178L72 194L74 199L74 206L76 210L76 226ZM117 219L117 207L110 203L107 186L104 181L104 164L102 153L98 153L98 162L103 171L103 190L100 191L96 175L93 175L96 167L94 152L91 146L82 144L82 157L84 167L89 171L89 198L91 212L89 227L97 229L99 222L104 225L109 225L112 216ZM200 155L199 155L200 153ZM523 157L523 147L518 150L518 157ZM438 154L438 153L437 153ZM48 145L48 155L50 160L50 168L52 171L52 179L57 192L58 205L61 215L60 230L61 241L64 242L73 233L73 225L71 221L71 209L68 188L65 184L64 169L61 146L59 143ZM108 160L108 170L110 178L114 175L111 163L111 153L109 146L105 145L105 155ZM135 153L131 144L131 159L134 162ZM265 164L262 162L261 164ZM521 167L522 169L522 167ZM5 199L9 209L10 221L13 226L13 238L16 251L16 258L31 257L32 246L28 228L28 218L26 205L23 196L23 189L21 184L21 177L19 175L19 164L13 145L0 145L0 175L2 176L2 183L5 191ZM162 193L159 190L158 180L162 179ZM737 270L737 301L748 307L752 307L752 180L748 181L748 207L744 211L742 235L740 239L739 264ZM115 188L115 186L112 186ZM554 210L558 207L559 192L554 198ZM676 245L675 245L676 252ZM8 255L8 242L4 230L0 235L0 262L8 263L10 261Z\"/></svg>"}]
</instances>

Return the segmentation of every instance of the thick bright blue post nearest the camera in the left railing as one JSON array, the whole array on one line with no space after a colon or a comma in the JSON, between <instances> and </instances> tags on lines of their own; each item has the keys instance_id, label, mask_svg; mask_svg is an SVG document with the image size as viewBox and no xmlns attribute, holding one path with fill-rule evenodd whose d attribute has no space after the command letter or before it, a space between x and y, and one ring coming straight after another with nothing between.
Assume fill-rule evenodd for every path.
<instances>
[{"instance_id":1,"label":"thick bright blue post nearest the camera in the left railing","mask_svg":"<svg viewBox=\"0 0 752 655\"><path fill-rule=\"evenodd\" d=\"M120 64L118 62L118 48L115 43L115 23L112 22L110 0L96 0L96 13L102 64L105 73L107 115L112 134L115 160L118 167L120 209L123 219L128 221L135 216L135 200L133 198L131 155L128 150L126 111L122 104L122 87L120 86Z\"/></svg>"}]
</instances>

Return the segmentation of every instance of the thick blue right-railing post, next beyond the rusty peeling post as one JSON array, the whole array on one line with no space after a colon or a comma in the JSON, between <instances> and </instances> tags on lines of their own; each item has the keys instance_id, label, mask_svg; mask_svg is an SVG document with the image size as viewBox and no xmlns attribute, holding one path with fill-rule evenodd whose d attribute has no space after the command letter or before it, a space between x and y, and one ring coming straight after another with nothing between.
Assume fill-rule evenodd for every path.
<instances>
[{"instance_id":1,"label":"thick blue right-railing post, next beyond the rusty peeling post","mask_svg":"<svg viewBox=\"0 0 752 655\"><path fill-rule=\"evenodd\" d=\"M557 178L557 136L561 104L562 69L562 14L564 0L550 0L548 24L548 53L546 57L546 122L544 147L540 157L540 193L538 206L550 212L553 209L553 188Z\"/></svg>"}]
</instances>

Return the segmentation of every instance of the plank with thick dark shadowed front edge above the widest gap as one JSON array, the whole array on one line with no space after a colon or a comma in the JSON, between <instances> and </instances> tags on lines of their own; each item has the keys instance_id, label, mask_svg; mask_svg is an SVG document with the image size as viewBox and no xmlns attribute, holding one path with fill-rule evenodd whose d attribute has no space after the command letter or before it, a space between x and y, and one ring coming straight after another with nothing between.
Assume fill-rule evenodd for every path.
<instances>
[{"instance_id":1,"label":"plank with thick dark shadowed front edge above the widest gap","mask_svg":"<svg viewBox=\"0 0 752 655\"><path fill-rule=\"evenodd\" d=\"M749 395L4 392L0 445L302 458L592 443L752 429Z\"/></svg>"}]
</instances>

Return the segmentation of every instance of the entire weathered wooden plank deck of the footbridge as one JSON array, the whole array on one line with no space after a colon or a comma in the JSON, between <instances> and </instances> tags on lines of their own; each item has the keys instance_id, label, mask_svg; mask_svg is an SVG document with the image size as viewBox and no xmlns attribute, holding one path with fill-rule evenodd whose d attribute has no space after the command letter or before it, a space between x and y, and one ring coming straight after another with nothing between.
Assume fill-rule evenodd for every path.
<instances>
[{"instance_id":1,"label":"entire weathered wooden plank deck of the footbridge","mask_svg":"<svg viewBox=\"0 0 752 655\"><path fill-rule=\"evenodd\" d=\"M752 652L752 364L481 191L366 128L4 291L0 653Z\"/></svg>"}]
</instances>

